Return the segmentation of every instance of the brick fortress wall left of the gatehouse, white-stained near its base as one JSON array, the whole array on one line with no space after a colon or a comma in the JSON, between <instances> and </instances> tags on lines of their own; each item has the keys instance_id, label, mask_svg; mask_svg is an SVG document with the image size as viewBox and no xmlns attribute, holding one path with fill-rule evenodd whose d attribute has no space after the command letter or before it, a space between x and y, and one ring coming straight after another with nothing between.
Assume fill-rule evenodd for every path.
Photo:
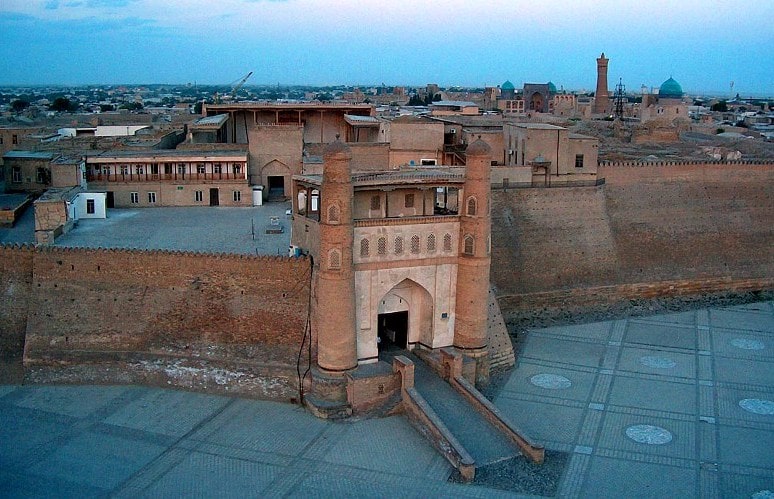
<instances>
[{"instance_id":1,"label":"brick fortress wall left of the gatehouse, white-stained near its base","mask_svg":"<svg viewBox=\"0 0 774 499\"><path fill-rule=\"evenodd\" d=\"M3 341L7 332L26 333L24 362L33 377L67 379L69 367L82 380L295 394L307 259L64 248L2 252ZM110 363L129 378L116 379L105 368ZM51 365L59 374L46 373Z\"/></svg>"}]
</instances>

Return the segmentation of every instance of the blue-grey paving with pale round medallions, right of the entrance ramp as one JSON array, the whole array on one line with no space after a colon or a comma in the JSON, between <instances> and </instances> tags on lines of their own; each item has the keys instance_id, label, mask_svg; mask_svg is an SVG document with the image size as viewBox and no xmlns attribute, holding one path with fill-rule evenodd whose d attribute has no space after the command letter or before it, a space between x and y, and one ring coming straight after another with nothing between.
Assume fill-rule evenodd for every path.
<instances>
[{"instance_id":1,"label":"blue-grey paving with pale round medallions, right of the entrance ramp","mask_svg":"<svg viewBox=\"0 0 774 499\"><path fill-rule=\"evenodd\" d=\"M529 331L495 404L562 497L774 497L774 303Z\"/></svg>"}]
</instances>

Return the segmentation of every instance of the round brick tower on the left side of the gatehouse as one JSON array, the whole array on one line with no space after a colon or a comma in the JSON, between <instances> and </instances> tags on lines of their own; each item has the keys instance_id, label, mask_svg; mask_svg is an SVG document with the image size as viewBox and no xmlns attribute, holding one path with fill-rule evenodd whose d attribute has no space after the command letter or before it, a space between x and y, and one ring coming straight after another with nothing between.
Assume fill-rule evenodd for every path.
<instances>
[{"instance_id":1,"label":"round brick tower on the left side of the gatehouse","mask_svg":"<svg viewBox=\"0 0 774 499\"><path fill-rule=\"evenodd\" d=\"M335 373L357 367L352 152L337 137L325 149L323 158L312 330L317 334L318 366Z\"/></svg>"}]
</instances>

